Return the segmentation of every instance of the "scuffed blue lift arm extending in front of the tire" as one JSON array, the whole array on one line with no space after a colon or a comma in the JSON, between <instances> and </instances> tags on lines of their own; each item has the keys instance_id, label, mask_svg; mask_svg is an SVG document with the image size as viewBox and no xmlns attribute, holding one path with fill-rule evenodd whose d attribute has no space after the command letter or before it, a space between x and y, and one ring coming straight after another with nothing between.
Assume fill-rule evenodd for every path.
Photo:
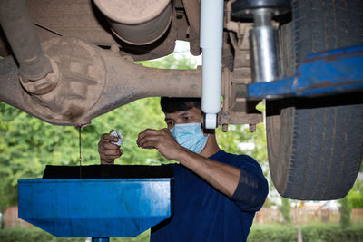
<instances>
[{"instance_id":1,"label":"scuffed blue lift arm extending in front of the tire","mask_svg":"<svg viewBox=\"0 0 363 242\"><path fill-rule=\"evenodd\" d=\"M311 53L294 76L247 86L248 99L311 97L363 91L363 45Z\"/></svg>"}]
</instances>

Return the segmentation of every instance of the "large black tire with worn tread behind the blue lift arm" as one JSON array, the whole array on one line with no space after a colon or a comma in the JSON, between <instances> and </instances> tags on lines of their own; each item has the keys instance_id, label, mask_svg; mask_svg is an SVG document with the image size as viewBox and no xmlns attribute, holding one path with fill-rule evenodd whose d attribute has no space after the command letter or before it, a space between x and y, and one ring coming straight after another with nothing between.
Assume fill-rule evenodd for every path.
<instances>
[{"instance_id":1,"label":"large black tire with worn tread behind the blue lift arm","mask_svg":"<svg viewBox=\"0 0 363 242\"><path fill-rule=\"evenodd\" d=\"M363 1L293 0L292 7L281 29L288 76L309 53L363 44ZM270 172L282 197L347 195L363 156L362 103L362 92L267 102Z\"/></svg>"}]
</instances>

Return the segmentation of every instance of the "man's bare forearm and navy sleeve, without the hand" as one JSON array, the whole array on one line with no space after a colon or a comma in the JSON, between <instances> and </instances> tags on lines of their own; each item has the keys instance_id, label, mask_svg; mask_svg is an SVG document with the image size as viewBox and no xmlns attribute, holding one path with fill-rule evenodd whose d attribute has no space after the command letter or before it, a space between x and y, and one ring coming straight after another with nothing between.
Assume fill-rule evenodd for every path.
<instances>
[{"instance_id":1,"label":"man's bare forearm and navy sleeve, without the hand","mask_svg":"<svg viewBox=\"0 0 363 242\"><path fill-rule=\"evenodd\" d=\"M263 177L257 162L251 158L246 160L250 166L236 168L186 150L177 161L234 200L241 210L260 210L269 193L267 179Z\"/></svg>"}]
</instances>

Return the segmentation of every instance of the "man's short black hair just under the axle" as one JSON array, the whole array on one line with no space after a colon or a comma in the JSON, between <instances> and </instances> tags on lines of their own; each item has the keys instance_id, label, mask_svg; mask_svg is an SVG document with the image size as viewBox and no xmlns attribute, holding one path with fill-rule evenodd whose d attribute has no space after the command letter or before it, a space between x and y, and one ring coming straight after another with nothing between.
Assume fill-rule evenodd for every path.
<instances>
[{"instance_id":1,"label":"man's short black hair just under the axle","mask_svg":"<svg viewBox=\"0 0 363 242\"><path fill-rule=\"evenodd\" d=\"M168 98L162 97L160 105L164 113L172 113L174 111L186 111L193 107L201 110L201 98Z\"/></svg>"}]
</instances>

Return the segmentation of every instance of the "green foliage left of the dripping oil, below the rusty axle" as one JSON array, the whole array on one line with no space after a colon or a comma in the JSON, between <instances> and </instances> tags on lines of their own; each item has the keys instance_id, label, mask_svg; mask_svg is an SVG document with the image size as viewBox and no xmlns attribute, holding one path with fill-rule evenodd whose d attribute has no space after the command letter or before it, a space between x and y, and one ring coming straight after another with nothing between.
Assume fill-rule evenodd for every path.
<instances>
[{"instance_id":1,"label":"green foliage left of the dripping oil, below the rusty axle","mask_svg":"<svg viewBox=\"0 0 363 242\"><path fill-rule=\"evenodd\" d=\"M39 175L44 169L43 162L50 156L59 160L61 154L55 149L58 145L67 142L71 145L64 146L63 150L67 153L73 150L72 140L68 139L75 130L72 127L51 130L50 124L3 102L0 102L0 113L3 127L0 131L0 203L5 208L16 203L17 179Z\"/></svg>"}]
</instances>

